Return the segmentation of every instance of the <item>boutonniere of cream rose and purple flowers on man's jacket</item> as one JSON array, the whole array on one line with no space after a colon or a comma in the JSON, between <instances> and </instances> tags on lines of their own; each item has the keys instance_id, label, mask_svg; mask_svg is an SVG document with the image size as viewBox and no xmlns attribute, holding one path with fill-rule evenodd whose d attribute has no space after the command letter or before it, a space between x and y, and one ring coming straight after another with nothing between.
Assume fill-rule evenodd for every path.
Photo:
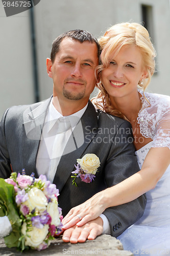
<instances>
[{"instance_id":1,"label":"boutonniere of cream rose and purple flowers on man's jacket","mask_svg":"<svg viewBox=\"0 0 170 256\"><path fill-rule=\"evenodd\" d=\"M81 159L77 159L77 165L75 164L76 170L72 172L75 176L72 180L72 185L78 186L76 183L76 178L81 178L83 182L90 183L95 178L95 173L100 166L100 159L95 154L86 154Z\"/></svg>"}]
</instances>

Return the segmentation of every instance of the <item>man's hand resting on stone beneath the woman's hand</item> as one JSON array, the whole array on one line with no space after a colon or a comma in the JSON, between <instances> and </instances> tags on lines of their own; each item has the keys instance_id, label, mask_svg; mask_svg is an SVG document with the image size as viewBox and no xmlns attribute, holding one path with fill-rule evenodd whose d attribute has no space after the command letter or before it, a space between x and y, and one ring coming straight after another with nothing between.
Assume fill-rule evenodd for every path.
<instances>
[{"instance_id":1,"label":"man's hand resting on stone beneath the woman's hand","mask_svg":"<svg viewBox=\"0 0 170 256\"><path fill-rule=\"evenodd\" d=\"M65 243L84 243L87 239L94 240L97 236L100 236L103 232L103 220L101 217L96 218L93 221L87 222L85 225L78 227L73 226L68 228L63 233L63 241Z\"/></svg>"}]
</instances>

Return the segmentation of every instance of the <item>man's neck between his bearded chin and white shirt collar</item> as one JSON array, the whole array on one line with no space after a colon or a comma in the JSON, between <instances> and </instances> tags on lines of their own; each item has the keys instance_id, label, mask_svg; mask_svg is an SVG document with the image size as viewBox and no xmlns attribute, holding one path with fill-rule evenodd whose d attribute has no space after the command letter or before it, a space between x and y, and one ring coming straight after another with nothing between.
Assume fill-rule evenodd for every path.
<instances>
[{"instance_id":1,"label":"man's neck between his bearded chin and white shirt collar","mask_svg":"<svg viewBox=\"0 0 170 256\"><path fill-rule=\"evenodd\" d=\"M63 116L72 115L85 107L88 98L84 100L59 100L58 97L53 97L53 105L56 110Z\"/></svg>"}]
</instances>

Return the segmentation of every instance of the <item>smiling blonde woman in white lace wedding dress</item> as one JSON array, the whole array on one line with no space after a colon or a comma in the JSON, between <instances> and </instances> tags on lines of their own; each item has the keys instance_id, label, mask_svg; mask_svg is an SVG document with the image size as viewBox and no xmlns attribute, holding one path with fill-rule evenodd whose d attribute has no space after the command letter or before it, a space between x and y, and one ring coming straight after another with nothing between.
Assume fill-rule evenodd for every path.
<instances>
[{"instance_id":1,"label":"smiling blonde woman in white lace wedding dress","mask_svg":"<svg viewBox=\"0 0 170 256\"><path fill-rule=\"evenodd\" d=\"M93 103L131 123L141 170L71 209L64 228L82 226L107 207L148 191L143 217L118 239L134 254L170 255L170 97L144 93L154 74L155 49L148 31L136 23L112 26L99 42L101 82Z\"/></svg>"}]
</instances>

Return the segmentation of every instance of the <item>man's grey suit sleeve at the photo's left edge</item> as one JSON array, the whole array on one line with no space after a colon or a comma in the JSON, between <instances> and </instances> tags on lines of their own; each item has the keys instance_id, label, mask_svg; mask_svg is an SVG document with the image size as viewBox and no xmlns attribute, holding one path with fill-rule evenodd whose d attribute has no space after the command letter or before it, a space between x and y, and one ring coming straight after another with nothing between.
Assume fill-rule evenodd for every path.
<instances>
[{"instance_id":1,"label":"man's grey suit sleeve at the photo's left edge","mask_svg":"<svg viewBox=\"0 0 170 256\"><path fill-rule=\"evenodd\" d=\"M5 137L5 120L8 110L5 112L0 123L0 178L9 178L11 175L10 158ZM13 127L9 127L13 129Z\"/></svg>"}]
</instances>

